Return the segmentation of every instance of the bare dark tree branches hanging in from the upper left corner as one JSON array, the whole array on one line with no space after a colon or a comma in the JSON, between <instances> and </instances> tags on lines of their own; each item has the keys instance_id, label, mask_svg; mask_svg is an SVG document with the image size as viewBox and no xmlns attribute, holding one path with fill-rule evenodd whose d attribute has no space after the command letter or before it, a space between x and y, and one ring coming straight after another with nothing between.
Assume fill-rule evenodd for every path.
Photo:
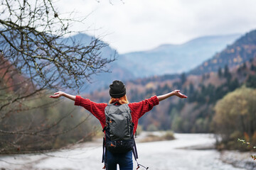
<instances>
[{"instance_id":1,"label":"bare dark tree branches hanging in from the upper left corner","mask_svg":"<svg viewBox=\"0 0 256 170\"><path fill-rule=\"evenodd\" d=\"M64 39L72 18L60 18L50 0L1 0L1 51L38 88L80 87L92 74L105 71L113 58L102 58L106 44L97 38L88 45ZM74 81L75 80L75 81Z\"/></svg>"}]
</instances>

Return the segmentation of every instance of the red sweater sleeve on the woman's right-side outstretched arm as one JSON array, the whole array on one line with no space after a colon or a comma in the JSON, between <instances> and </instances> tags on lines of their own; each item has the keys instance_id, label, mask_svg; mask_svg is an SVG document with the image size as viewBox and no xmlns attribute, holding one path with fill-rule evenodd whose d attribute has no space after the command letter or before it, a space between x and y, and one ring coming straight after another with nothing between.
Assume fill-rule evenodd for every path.
<instances>
[{"instance_id":1,"label":"red sweater sleeve on the woman's right-side outstretched arm","mask_svg":"<svg viewBox=\"0 0 256 170\"><path fill-rule=\"evenodd\" d=\"M146 112L151 111L154 106L159 104L156 96L137 103L129 103L129 108L136 118L141 118Z\"/></svg>"}]
</instances>

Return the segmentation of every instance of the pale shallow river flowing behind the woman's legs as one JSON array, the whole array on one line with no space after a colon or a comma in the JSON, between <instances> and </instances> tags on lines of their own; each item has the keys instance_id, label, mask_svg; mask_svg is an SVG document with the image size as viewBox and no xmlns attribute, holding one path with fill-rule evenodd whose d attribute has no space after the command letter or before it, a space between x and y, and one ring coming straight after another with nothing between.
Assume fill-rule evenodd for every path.
<instances>
[{"instance_id":1,"label":"pale shallow river flowing behind the woman's legs","mask_svg":"<svg viewBox=\"0 0 256 170\"><path fill-rule=\"evenodd\" d=\"M206 134L175 134L176 140L161 142L137 142L139 164L149 170L237 170L220 160L215 149L191 149L210 147L215 139ZM0 169L33 170L100 170L103 167L101 142L77 145L45 154L20 154L1 156ZM137 164L134 162L134 169ZM139 169L143 169L142 167Z\"/></svg>"}]
</instances>

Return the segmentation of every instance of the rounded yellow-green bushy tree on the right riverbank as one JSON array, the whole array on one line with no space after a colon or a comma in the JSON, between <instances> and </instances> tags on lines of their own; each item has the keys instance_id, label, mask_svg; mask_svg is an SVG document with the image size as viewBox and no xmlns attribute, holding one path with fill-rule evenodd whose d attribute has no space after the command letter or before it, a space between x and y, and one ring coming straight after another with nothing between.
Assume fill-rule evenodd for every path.
<instances>
[{"instance_id":1,"label":"rounded yellow-green bushy tree on the right riverbank","mask_svg":"<svg viewBox=\"0 0 256 170\"><path fill-rule=\"evenodd\" d=\"M244 135L256 135L256 90L242 86L225 95L215 105L213 118L215 133L221 135L222 142L227 147L234 147L234 140Z\"/></svg>"}]
</instances>

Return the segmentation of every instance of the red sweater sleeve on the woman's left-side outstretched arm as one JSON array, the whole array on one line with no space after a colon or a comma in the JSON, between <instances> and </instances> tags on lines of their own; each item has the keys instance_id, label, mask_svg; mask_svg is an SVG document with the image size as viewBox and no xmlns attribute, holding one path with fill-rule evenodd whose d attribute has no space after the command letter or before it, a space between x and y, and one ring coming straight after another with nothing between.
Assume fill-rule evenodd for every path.
<instances>
[{"instance_id":1,"label":"red sweater sleeve on the woman's left-side outstretched arm","mask_svg":"<svg viewBox=\"0 0 256 170\"><path fill-rule=\"evenodd\" d=\"M94 115L100 123L105 124L105 107L107 103L95 103L90 101L88 98L82 98L81 96L75 96L75 106L82 106L87 111L90 111L92 115Z\"/></svg>"}]
</instances>

